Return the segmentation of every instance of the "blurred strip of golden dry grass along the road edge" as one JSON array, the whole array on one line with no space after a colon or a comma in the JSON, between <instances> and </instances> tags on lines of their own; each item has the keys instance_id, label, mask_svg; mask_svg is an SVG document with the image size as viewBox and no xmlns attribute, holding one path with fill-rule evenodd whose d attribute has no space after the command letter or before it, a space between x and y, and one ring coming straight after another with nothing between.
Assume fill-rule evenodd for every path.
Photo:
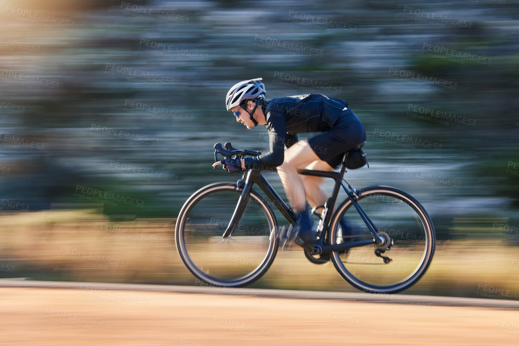
<instances>
[{"instance_id":1,"label":"blurred strip of golden dry grass along the road edge","mask_svg":"<svg viewBox=\"0 0 519 346\"><path fill-rule=\"evenodd\" d=\"M14 267L10 272L3 266L3 277L195 284L176 252L174 219L111 223L98 210L2 212L0 217L1 262ZM428 272L407 293L519 298L517 247L501 240L439 245ZM274 265L254 286L355 290L330 262L311 264L301 249L279 251Z\"/></svg>"}]
</instances>

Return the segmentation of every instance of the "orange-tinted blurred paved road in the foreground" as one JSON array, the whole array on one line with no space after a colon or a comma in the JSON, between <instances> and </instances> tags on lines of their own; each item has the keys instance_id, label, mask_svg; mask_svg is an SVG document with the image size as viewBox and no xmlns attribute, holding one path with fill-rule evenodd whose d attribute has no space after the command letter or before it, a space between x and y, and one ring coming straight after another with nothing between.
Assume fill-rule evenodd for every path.
<instances>
[{"instance_id":1,"label":"orange-tinted blurred paved road in the foreground","mask_svg":"<svg viewBox=\"0 0 519 346\"><path fill-rule=\"evenodd\" d=\"M458 306L452 306L452 302L445 304L450 306L433 305L427 297L409 299L407 303L354 301L339 296L337 300L271 298L266 292L269 290L250 289L229 295L229 292L224 294L207 288L202 289L210 294L181 293L180 288L157 292L156 285L36 282L54 288L8 287L30 283L0 281L0 286L4 286L0 288L2 344L472 346L519 343L519 312L511 302L508 302L511 307L503 304L501 308L489 308L470 306L468 302L455 304ZM73 287L56 288L60 285ZM162 286L161 290L166 287L183 287L185 292L200 289ZM320 293L310 294L315 298ZM310 294L308 298L312 298Z\"/></svg>"}]
</instances>

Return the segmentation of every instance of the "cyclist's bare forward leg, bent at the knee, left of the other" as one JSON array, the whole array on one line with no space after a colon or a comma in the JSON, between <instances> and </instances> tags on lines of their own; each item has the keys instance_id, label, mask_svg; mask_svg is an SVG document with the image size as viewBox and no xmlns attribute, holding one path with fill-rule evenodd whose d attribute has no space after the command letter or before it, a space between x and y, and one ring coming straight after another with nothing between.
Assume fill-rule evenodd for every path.
<instances>
[{"instance_id":1,"label":"cyclist's bare forward leg, bent at the knee, left of the other","mask_svg":"<svg viewBox=\"0 0 519 346\"><path fill-rule=\"evenodd\" d=\"M298 168L305 168L312 162L319 160L308 141L295 143L285 150L283 164L278 166L279 177L285 189L292 210L296 213L306 209L305 188L301 176L297 174Z\"/></svg>"}]
</instances>

